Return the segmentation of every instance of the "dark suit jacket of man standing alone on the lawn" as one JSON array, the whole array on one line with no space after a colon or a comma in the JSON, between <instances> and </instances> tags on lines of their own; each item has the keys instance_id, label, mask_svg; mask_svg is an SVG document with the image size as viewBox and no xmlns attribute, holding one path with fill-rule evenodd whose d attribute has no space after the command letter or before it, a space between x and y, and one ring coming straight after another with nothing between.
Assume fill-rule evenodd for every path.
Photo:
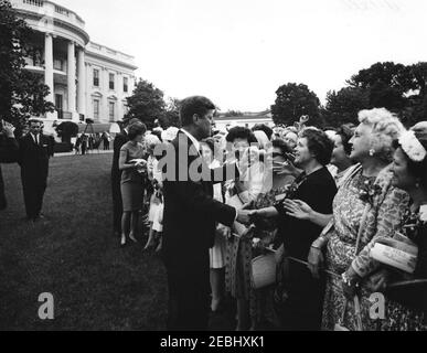
<instances>
[{"instance_id":1,"label":"dark suit jacket of man standing alone on the lawn","mask_svg":"<svg viewBox=\"0 0 427 353\"><path fill-rule=\"evenodd\" d=\"M40 135L36 145L30 133L19 141L18 162L21 165L22 181L44 185L49 173L49 158L52 154L50 137Z\"/></svg>"}]
</instances>

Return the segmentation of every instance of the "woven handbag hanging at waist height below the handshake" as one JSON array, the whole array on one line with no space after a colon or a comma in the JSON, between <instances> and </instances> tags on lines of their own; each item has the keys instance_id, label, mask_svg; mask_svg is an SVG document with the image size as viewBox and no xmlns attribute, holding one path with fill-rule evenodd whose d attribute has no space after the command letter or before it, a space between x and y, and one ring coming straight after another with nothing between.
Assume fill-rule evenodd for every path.
<instances>
[{"instance_id":1,"label":"woven handbag hanging at waist height below the handshake","mask_svg":"<svg viewBox=\"0 0 427 353\"><path fill-rule=\"evenodd\" d=\"M250 284L255 289L271 286L276 282L275 254L268 253L252 259Z\"/></svg>"}]
</instances>

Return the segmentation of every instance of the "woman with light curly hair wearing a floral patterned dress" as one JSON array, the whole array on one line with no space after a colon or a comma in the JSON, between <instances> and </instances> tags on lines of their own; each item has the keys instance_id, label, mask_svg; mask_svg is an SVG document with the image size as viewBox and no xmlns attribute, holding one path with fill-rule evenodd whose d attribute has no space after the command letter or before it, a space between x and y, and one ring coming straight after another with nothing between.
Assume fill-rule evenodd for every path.
<instances>
[{"instance_id":1,"label":"woman with light curly hair wearing a floral patterned dress","mask_svg":"<svg viewBox=\"0 0 427 353\"><path fill-rule=\"evenodd\" d=\"M384 108L361 110L359 120L351 139L351 158L359 163L343 176L333 201L333 227L313 242L309 254L311 270L316 271L322 266L325 250L324 330L332 330L344 311L341 323L349 330L359 329L353 304L359 284L363 329L376 329L369 314L371 291L363 286L380 268L370 250L376 238L389 237L401 226L408 202L405 192L393 188L393 174L386 168L393 156L393 140L404 130L402 124Z\"/></svg>"}]
</instances>

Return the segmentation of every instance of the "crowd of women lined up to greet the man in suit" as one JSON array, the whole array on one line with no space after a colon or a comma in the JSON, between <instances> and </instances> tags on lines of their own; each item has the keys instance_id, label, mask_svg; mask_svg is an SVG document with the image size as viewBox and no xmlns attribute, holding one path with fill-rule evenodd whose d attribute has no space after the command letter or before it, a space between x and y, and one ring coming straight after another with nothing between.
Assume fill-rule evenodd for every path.
<instances>
[{"instance_id":1,"label":"crowd of women lined up to greet the man in suit","mask_svg":"<svg viewBox=\"0 0 427 353\"><path fill-rule=\"evenodd\" d=\"M237 197L250 222L243 231L241 224L217 226L211 248L212 311L233 298L237 330L257 330L266 322L284 330L426 330L427 121L405 129L395 115L375 108L361 110L357 126L323 131L303 122L234 127L202 143L201 156L211 168L231 154L238 162L248 149L259 157L245 175L214 186L221 202L235 205ZM162 181L153 151L173 140L177 129L147 135L143 125L135 124L128 133L119 163L121 243L127 236L135 240L146 203L146 248L159 247ZM377 244L409 253L413 270L374 258ZM254 279L260 258L275 259L274 280L264 285ZM271 263L264 266L271 269ZM372 293L385 298L376 314Z\"/></svg>"}]
</instances>

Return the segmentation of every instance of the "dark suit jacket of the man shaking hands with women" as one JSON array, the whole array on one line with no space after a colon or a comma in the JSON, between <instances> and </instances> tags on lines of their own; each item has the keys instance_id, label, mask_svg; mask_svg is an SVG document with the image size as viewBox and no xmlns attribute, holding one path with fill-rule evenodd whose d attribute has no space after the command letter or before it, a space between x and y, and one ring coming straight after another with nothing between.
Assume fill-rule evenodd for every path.
<instances>
[{"instance_id":1,"label":"dark suit jacket of the man shaking hands with women","mask_svg":"<svg viewBox=\"0 0 427 353\"><path fill-rule=\"evenodd\" d=\"M162 258L170 272L199 274L209 270L209 248L213 246L216 222L232 225L236 211L213 199L212 181L191 180L191 165L199 164L204 170L209 168L184 132L179 131L172 147L175 152L174 171L170 172L171 165L167 165L167 180L163 182ZM181 158L180 152L183 154ZM169 157L170 153L171 150L168 150ZM216 175L220 174L217 172ZM234 164L222 168L220 172L223 176L229 172L238 175ZM211 176L214 173L210 173ZM181 181L185 176L188 181Z\"/></svg>"}]
</instances>

